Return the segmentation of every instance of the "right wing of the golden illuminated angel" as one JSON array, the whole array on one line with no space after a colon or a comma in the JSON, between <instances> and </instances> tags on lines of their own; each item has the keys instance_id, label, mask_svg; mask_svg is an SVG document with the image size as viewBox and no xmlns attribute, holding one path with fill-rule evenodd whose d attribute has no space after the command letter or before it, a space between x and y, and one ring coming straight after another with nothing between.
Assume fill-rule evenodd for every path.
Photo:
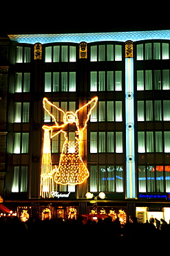
<instances>
[{"instance_id":1,"label":"right wing of the golden illuminated angel","mask_svg":"<svg viewBox=\"0 0 170 256\"><path fill-rule=\"evenodd\" d=\"M82 107L80 107L80 109L76 110L76 115L78 116L78 121L81 129L85 129L89 120L89 116L91 115L92 110L96 107L97 102L98 97L96 96L92 98L92 100L89 100L89 102L84 104Z\"/></svg>"}]
</instances>

